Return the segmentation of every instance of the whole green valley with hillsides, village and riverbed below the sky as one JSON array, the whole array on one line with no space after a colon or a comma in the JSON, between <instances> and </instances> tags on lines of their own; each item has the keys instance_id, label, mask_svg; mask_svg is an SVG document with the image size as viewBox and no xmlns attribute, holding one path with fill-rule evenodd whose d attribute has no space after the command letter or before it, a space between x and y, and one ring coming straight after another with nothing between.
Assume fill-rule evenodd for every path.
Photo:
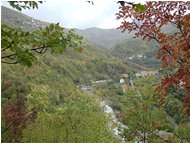
<instances>
[{"instance_id":1,"label":"whole green valley with hillsides, village and riverbed below the sky","mask_svg":"<svg viewBox=\"0 0 190 143\"><path fill-rule=\"evenodd\" d=\"M1 61L2 143L190 142L185 89L166 83L167 96L158 92L178 68L163 67L156 40L62 28L4 6L1 13L1 60L16 60Z\"/></svg>"}]
</instances>

